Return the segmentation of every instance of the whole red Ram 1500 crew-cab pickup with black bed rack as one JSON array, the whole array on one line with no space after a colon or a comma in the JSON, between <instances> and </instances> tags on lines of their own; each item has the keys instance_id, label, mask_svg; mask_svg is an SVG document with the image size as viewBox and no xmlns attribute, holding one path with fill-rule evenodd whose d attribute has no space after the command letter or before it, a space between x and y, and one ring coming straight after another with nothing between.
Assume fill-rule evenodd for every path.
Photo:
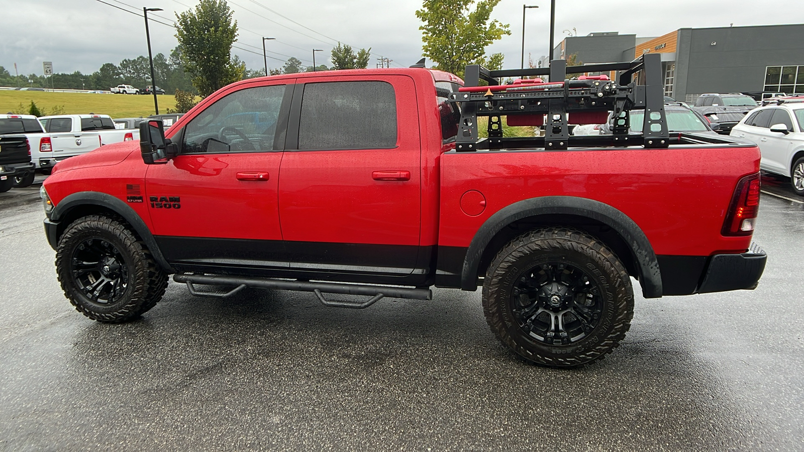
<instances>
[{"instance_id":1,"label":"whole red Ram 1500 crew-cab pickup with black bed rack","mask_svg":"<svg viewBox=\"0 0 804 452\"><path fill-rule=\"evenodd\" d=\"M609 110L611 135L568 134ZM507 138L503 120L546 133ZM670 136L659 55L470 66L466 84L425 68L269 76L221 88L167 138L157 120L140 133L59 162L42 189L64 294L100 322L152 308L171 273L193 294L306 290L346 307L482 286L498 339L572 367L625 337L632 277L659 298L753 289L765 267L757 146Z\"/></svg>"}]
</instances>

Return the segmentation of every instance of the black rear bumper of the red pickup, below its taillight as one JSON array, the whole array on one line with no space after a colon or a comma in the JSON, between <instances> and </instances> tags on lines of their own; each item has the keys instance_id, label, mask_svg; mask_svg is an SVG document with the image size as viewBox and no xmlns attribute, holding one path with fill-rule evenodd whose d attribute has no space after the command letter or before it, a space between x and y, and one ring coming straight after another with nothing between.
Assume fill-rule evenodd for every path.
<instances>
[{"instance_id":1,"label":"black rear bumper of the red pickup, below its taillight","mask_svg":"<svg viewBox=\"0 0 804 452\"><path fill-rule=\"evenodd\" d=\"M767 260L765 251L753 242L746 253L716 254L709 261L698 293L756 289Z\"/></svg>"}]
</instances>

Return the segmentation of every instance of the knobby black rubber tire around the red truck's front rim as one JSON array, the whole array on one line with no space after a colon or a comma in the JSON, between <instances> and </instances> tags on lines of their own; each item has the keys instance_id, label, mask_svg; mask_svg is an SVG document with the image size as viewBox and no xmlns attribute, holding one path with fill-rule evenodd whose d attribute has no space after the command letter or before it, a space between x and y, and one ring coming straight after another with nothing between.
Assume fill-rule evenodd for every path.
<instances>
[{"instance_id":1,"label":"knobby black rubber tire around the red truck's front rim","mask_svg":"<svg viewBox=\"0 0 804 452\"><path fill-rule=\"evenodd\" d=\"M126 287L120 299L109 303L93 301L73 276L74 253L87 240L105 241L125 262ZM118 217L84 216L70 224L59 238L55 265L64 295L76 310L102 323L139 318L156 306L167 287L167 273L158 268L146 244Z\"/></svg>"}]
</instances>

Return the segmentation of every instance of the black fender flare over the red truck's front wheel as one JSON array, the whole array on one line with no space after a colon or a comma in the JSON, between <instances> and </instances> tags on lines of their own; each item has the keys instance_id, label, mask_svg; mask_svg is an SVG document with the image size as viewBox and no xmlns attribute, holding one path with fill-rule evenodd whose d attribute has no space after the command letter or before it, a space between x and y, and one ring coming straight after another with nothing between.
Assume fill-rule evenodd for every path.
<instances>
[{"instance_id":1,"label":"black fender flare over the red truck's front wheel","mask_svg":"<svg viewBox=\"0 0 804 452\"><path fill-rule=\"evenodd\" d=\"M176 273L176 270L167 263L165 257L162 255L162 250L159 249L159 245L156 243L156 239L154 239L154 235L151 234L150 229L146 226L145 221L142 221L142 218L137 215L137 212L134 212L133 208L130 208L121 201L121 199L117 199L112 195L101 193L100 191L78 191L72 193L72 195L68 195L62 199L61 202L56 204L55 208L53 208L53 212L51 212L50 220L56 223L59 219L66 216L68 212L72 211L73 208L87 204L108 208L117 213L117 215L122 216L124 220L131 224L131 227L134 228L134 232L137 232L137 236L140 236L142 241L146 243L157 265L167 273Z\"/></svg>"}]
</instances>

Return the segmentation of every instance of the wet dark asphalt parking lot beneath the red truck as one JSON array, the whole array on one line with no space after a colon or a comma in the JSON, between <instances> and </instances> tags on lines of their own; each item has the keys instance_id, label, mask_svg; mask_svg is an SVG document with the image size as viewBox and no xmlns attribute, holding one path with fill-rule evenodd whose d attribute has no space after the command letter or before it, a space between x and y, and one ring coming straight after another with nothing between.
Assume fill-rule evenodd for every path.
<instances>
[{"instance_id":1,"label":"wet dark asphalt parking lot beneath the red truck","mask_svg":"<svg viewBox=\"0 0 804 452\"><path fill-rule=\"evenodd\" d=\"M613 354L519 360L480 293L195 298L84 318L55 278L38 184L0 194L0 450L804 450L804 199L763 178L753 291L639 296ZM782 197L779 197L782 196Z\"/></svg>"}]
</instances>

